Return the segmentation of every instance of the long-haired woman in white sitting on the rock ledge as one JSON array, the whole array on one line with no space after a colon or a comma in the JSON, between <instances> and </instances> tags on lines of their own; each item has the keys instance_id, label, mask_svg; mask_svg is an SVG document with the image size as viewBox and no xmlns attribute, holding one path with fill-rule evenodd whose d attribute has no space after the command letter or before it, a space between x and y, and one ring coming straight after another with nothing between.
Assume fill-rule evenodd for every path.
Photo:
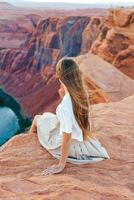
<instances>
[{"instance_id":1,"label":"long-haired woman in white sitting on the rock ledge","mask_svg":"<svg viewBox=\"0 0 134 200\"><path fill-rule=\"evenodd\" d=\"M30 133L37 130L41 145L59 159L57 165L46 168L42 175L61 172L66 162L87 164L110 159L92 133L88 93L73 58L64 57L57 63L56 78L61 83L62 97L56 115L49 112L36 115L30 129Z\"/></svg>"}]
</instances>

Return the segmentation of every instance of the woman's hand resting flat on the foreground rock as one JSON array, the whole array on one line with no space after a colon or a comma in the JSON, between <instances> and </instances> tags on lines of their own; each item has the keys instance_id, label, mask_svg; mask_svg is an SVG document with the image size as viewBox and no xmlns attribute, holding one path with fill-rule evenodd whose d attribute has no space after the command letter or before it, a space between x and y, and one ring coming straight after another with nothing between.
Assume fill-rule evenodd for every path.
<instances>
[{"instance_id":1,"label":"woman's hand resting flat on the foreground rock","mask_svg":"<svg viewBox=\"0 0 134 200\"><path fill-rule=\"evenodd\" d=\"M63 169L65 168L65 166L61 166L59 164L57 165L52 165L50 167L47 167L42 173L41 175L52 175L52 174L58 174L60 172L63 171Z\"/></svg>"}]
</instances>

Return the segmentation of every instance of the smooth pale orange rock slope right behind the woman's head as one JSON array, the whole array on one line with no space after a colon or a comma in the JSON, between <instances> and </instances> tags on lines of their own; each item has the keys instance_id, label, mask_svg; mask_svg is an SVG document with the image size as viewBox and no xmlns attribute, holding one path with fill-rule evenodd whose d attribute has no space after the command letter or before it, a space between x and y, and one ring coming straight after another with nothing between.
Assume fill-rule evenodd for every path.
<instances>
[{"instance_id":1,"label":"smooth pale orange rock slope right behind the woman's head","mask_svg":"<svg viewBox=\"0 0 134 200\"><path fill-rule=\"evenodd\" d=\"M94 89L89 86L89 90L92 89L93 92L93 102L119 101L134 94L134 80L97 55L87 53L77 56L76 61L84 72L87 82L92 81L97 85ZM97 98L95 93L100 98Z\"/></svg>"}]
</instances>

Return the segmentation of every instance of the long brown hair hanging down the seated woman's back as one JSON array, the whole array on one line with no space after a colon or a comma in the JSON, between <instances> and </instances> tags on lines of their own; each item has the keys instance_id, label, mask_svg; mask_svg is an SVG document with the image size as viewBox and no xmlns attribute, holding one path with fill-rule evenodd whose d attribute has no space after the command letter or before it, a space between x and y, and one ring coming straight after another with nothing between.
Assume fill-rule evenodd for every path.
<instances>
[{"instance_id":1,"label":"long brown hair hanging down the seated woman's back","mask_svg":"<svg viewBox=\"0 0 134 200\"><path fill-rule=\"evenodd\" d=\"M75 119L82 129L83 139L87 140L91 136L90 104L83 73L72 57L64 57L56 65L56 77L63 82L71 96Z\"/></svg>"}]
</instances>

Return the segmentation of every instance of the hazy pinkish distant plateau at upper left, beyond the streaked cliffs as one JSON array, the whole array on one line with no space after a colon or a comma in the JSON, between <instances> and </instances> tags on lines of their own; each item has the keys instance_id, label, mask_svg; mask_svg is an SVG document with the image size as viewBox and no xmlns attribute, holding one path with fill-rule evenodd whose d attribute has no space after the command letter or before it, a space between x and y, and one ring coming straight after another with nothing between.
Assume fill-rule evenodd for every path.
<instances>
[{"instance_id":1,"label":"hazy pinkish distant plateau at upper left, beyond the streaked cliffs","mask_svg":"<svg viewBox=\"0 0 134 200\"><path fill-rule=\"evenodd\" d=\"M45 10L45 11L44 11ZM61 16L104 16L106 9L47 10L15 7L0 2L0 48L18 48L40 18Z\"/></svg>"}]
</instances>

